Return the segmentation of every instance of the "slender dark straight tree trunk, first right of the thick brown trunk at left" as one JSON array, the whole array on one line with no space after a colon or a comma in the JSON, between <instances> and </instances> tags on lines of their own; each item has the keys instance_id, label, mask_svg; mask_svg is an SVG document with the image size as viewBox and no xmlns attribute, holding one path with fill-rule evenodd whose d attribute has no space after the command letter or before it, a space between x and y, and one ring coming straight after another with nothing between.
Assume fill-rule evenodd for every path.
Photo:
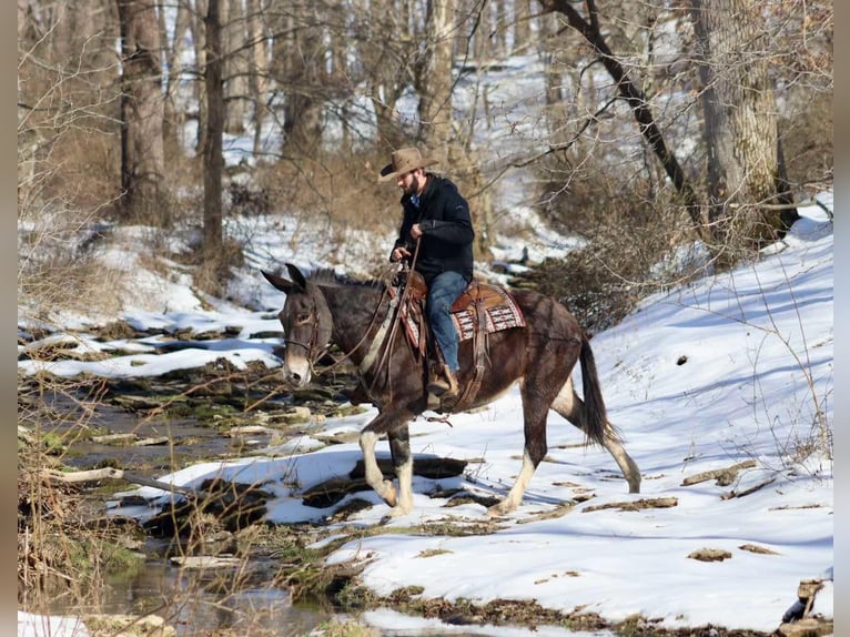
<instances>
[{"instance_id":1,"label":"slender dark straight tree trunk, first right of the thick brown trunk at left","mask_svg":"<svg viewBox=\"0 0 850 637\"><path fill-rule=\"evenodd\" d=\"M222 82L221 13L219 0L209 0L206 18L206 133L204 163L204 259L213 261L222 249L222 134L224 132L224 88Z\"/></svg>"}]
</instances>

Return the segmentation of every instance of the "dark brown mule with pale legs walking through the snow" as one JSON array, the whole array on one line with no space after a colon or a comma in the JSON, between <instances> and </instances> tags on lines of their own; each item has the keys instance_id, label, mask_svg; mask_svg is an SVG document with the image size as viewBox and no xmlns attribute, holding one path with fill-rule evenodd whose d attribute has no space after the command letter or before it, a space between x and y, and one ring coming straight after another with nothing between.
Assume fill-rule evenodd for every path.
<instances>
[{"instance_id":1,"label":"dark brown mule with pale legs walking through the snow","mask_svg":"<svg viewBox=\"0 0 850 637\"><path fill-rule=\"evenodd\" d=\"M408 425L426 410L434 410L425 388L427 373L421 353L411 344L395 317L393 286L384 282L350 281L322 271L305 276L287 263L290 279L263 271L265 279L286 293L279 313L285 336L283 374L297 386L310 383L314 364L331 344L348 356L361 387L377 407L377 416L361 432L360 446L366 482L392 507L391 516L413 508L413 457ZM514 510L547 452L549 410L581 429L614 457L630 493L640 491L640 472L626 453L617 429L609 423L590 344L576 318L554 299L530 290L512 291L522 309L524 327L487 334L486 356L474 360L470 341L459 345L457 374L462 396L456 411L486 405L519 383L525 447L516 482L490 515ZM389 326L387 328L387 326ZM475 371L474 363L478 363ZM574 390L571 372L580 363L584 400ZM474 395L464 394L476 376ZM438 408L436 410L438 411ZM398 486L385 479L375 458L375 445L386 435Z\"/></svg>"}]
</instances>

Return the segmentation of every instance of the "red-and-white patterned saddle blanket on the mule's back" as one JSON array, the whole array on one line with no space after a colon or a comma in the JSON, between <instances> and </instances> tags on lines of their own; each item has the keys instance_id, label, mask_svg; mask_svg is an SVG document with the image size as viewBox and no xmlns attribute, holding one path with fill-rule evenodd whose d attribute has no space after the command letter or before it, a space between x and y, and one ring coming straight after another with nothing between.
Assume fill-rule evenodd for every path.
<instances>
[{"instance_id":1,"label":"red-and-white patterned saddle blanket on the mule's back","mask_svg":"<svg viewBox=\"0 0 850 637\"><path fill-rule=\"evenodd\" d=\"M476 311L484 312L484 324L488 334L526 325L522 309L506 290L474 281L452 305L452 321L459 341L468 341L473 337L477 324ZM422 345L419 330L422 311L403 307L402 317L413 345Z\"/></svg>"}]
</instances>

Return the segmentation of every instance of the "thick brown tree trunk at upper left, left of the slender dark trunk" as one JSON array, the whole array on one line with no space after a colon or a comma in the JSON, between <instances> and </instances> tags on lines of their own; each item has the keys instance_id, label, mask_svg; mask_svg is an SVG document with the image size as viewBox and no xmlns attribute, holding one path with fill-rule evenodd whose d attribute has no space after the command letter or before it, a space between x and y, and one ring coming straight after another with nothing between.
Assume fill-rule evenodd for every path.
<instances>
[{"instance_id":1,"label":"thick brown tree trunk at upper left, left of the slender dark trunk","mask_svg":"<svg viewBox=\"0 0 850 637\"><path fill-rule=\"evenodd\" d=\"M163 100L156 9L139 0L118 0L121 28L121 188L128 219L168 222L164 196Z\"/></svg>"}]
</instances>

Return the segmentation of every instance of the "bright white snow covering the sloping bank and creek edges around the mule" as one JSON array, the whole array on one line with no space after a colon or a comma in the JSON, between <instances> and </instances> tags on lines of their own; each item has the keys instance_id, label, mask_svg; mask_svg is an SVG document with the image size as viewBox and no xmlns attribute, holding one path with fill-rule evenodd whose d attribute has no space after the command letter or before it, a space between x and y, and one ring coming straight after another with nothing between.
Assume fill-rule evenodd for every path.
<instances>
[{"instance_id":1,"label":"bright white snow covering the sloping bank and creek edges around the mule","mask_svg":"<svg viewBox=\"0 0 850 637\"><path fill-rule=\"evenodd\" d=\"M830 193L820 200L831 206ZM669 628L711 624L776 629L799 582L818 577L833 562L833 464L819 446L821 423L831 429L833 422L832 222L818 206L800 212L803 219L788 236L752 263L656 294L594 336L609 416L642 473L640 494L628 494L611 457L584 446L581 434L552 413L548 457L522 506L492 520L492 534L411 532L411 525L432 520L490 520L482 505L446 508L445 498L428 494L437 486L506 494L523 445L522 406L514 387L484 410L452 415L451 427L424 418L414 423L415 457L464 458L469 461L466 473L443 481L415 477L411 514L387 523L383 535L343 545L331 560L367 560L362 579L382 595L421 586L423 597L478 604L528 599L565 613L581 608L608 621L640 614ZM220 356L239 366L253 360L276 366L272 350L280 341L252 337L280 330L267 310L280 307L283 294L269 287L257 287L266 296L254 306L263 311L225 303L214 310L181 303L174 311L125 311L123 317L138 327L240 330L237 336L205 342L206 348L161 355L124 350L102 362L50 363L50 370L62 375L156 375ZM172 295L165 287L163 293ZM172 301L163 300L162 307ZM78 338L91 348L128 347ZM156 342L151 337L148 345L153 348ZM19 368L32 373L37 365L21 361ZM356 443L323 446L313 436L357 431L375 414L370 410L330 418L274 449L189 466L159 479L192 485L220 475L259 484L275 496L270 522L321 523L334 508L305 506L303 492L347 475L361 456ZM388 455L385 443L378 445L378 455ZM753 466L731 484L682 485L688 476L746 461L755 461ZM151 487L132 493L160 502L171 497ZM371 492L356 495L374 506L338 523L341 532L346 525L380 524L389 512ZM676 498L677 505L591 509L661 497ZM142 518L153 509L115 510ZM542 515L546 513L556 516ZM771 553L752 553L746 545ZM731 558L688 557L702 548L727 550ZM817 597L817 610L828 617L831 595L829 585ZM388 611L366 619L389 634L394 625L411 634L433 624ZM19 635L37 634L21 633L20 621L19 616ZM416 621L424 624L417 627Z\"/></svg>"}]
</instances>

